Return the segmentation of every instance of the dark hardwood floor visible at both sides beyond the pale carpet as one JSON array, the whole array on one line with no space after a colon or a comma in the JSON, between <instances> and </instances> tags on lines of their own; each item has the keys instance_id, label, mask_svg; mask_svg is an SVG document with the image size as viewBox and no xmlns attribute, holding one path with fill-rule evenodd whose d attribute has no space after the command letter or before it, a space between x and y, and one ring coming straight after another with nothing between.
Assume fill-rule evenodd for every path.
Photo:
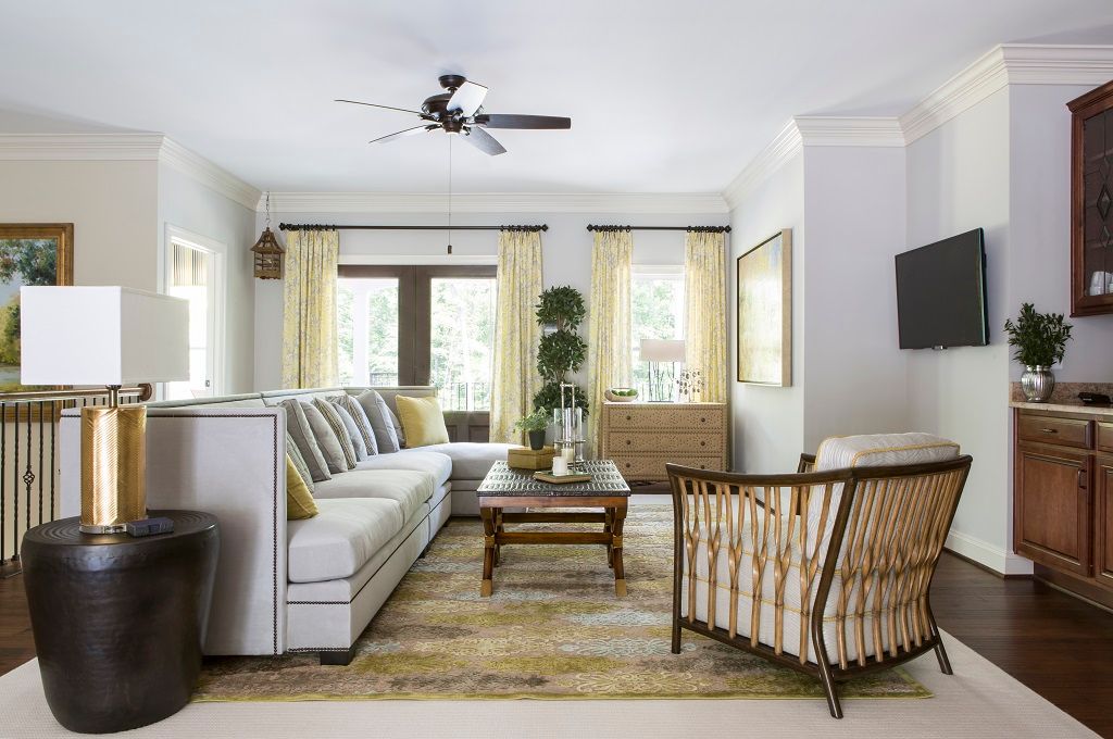
<instances>
[{"instance_id":1,"label":"dark hardwood floor visible at both sides beyond the pale carpet","mask_svg":"<svg viewBox=\"0 0 1113 739\"><path fill-rule=\"evenodd\" d=\"M939 625L1103 737L1113 738L1113 613L1034 580L945 554ZM22 577L0 580L0 674L35 657Z\"/></svg>"}]
</instances>

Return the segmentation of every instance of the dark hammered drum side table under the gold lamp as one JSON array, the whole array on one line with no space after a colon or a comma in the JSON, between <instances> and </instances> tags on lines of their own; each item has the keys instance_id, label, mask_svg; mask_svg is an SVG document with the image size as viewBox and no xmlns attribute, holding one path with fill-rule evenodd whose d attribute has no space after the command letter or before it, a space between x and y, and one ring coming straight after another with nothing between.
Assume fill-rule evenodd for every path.
<instances>
[{"instance_id":1,"label":"dark hammered drum side table under the gold lamp","mask_svg":"<svg viewBox=\"0 0 1113 739\"><path fill-rule=\"evenodd\" d=\"M83 534L78 519L23 538L23 585L47 703L71 731L105 733L181 709L201 667L220 548L216 516L150 511L174 532Z\"/></svg>"}]
</instances>

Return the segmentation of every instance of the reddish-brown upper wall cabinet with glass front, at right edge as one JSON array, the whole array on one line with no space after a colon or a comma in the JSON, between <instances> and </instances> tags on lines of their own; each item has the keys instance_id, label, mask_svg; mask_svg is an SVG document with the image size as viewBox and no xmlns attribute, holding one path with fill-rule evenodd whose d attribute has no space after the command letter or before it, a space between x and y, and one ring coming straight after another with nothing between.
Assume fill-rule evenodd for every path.
<instances>
[{"instance_id":1,"label":"reddish-brown upper wall cabinet with glass front, at right edge","mask_svg":"<svg viewBox=\"0 0 1113 739\"><path fill-rule=\"evenodd\" d=\"M1113 313L1113 82L1067 104L1071 315Z\"/></svg>"}]
</instances>

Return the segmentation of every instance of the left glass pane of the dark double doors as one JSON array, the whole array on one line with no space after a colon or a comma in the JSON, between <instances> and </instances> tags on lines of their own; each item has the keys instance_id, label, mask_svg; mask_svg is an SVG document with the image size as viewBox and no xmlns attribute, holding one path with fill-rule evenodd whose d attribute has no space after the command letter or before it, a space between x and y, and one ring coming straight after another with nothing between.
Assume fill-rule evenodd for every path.
<instances>
[{"instance_id":1,"label":"left glass pane of the dark double doors","mask_svg":"<svg viewBox=\"0 0 1113 739\"><path fill-rule=\"evenodd\" d=\"M397 385L397 278L338 279L336 322L341 384Z\"/></svg>"}]
</instances>

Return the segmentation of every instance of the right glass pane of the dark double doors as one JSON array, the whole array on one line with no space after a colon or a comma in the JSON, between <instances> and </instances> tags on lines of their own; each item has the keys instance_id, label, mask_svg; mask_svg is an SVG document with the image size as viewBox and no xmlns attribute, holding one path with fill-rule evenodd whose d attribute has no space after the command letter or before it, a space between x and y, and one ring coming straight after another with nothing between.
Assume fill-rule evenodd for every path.
<instances>
[{"instance_id":1,"label":"right glass pane of the dark double doors","mask_svg":"<svg viewBox=\"0 0 1113 739\"><path fill-rule=\"evenodd\" d=\"M431 280L430 384L445 411L490 411L495 280Z\"/></svg>"}]
</instances>

